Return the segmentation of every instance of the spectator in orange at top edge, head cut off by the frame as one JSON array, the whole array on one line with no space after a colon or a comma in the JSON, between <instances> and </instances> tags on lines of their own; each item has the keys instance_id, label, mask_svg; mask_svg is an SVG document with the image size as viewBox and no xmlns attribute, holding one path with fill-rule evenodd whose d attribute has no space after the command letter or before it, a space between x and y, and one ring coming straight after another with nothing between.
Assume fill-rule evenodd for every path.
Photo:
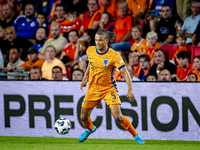
<instances>
[{"instance_id":1,"label":"spectator in orange at top edge, head cut off by the frame","mask_svg":"<svg viewBox=\"0 0 200 150\"><path fill-rule=\"evenodd\" d=\"M128 7L137 19L143 19L149 6L148 0L128 0Z\"/></svg>"}]
</instances>

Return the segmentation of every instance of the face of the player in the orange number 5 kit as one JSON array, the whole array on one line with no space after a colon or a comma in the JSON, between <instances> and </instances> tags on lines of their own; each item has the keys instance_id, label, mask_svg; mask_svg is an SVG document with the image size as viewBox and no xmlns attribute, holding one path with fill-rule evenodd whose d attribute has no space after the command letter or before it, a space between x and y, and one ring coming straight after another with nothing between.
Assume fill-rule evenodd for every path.
<instances>
[{"instance_id":1,"label":"face of the player in the orange number 5 kit","mask_svg":"<svg viewBox=\"0 0 200 150\"><path fill-rule=\"evenodd\" d=\"M97 46L97 49L100 51L104 51L107 48L108 39L104 35L95 35L95 43Z\"/></svg>"}]
</instances>

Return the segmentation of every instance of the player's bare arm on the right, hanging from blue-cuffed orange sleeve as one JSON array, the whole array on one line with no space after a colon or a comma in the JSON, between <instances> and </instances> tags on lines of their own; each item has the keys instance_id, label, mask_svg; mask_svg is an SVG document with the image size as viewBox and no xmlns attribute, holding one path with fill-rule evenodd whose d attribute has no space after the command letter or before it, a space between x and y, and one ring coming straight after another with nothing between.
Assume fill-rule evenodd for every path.
<instances>
[{"instance_id":1,"label":"player's bare arm on the right, hanging from blue-cuffed orange sleeve","mask_svg":"<svg viewBox=\"0 0 200 150\"><path fill-rule=\"evenodd\" d=\"M126 83L128 85L128 93L127 93L127 97L129 98L129 101L134 101L135 100L135 96L133 93L133 88L132 88L132 81L131 81L131 77L130 74L128 73L126 67L123 67L122 69L120 69L122 75L124 76Z\"/></svg>"}]
</instances>

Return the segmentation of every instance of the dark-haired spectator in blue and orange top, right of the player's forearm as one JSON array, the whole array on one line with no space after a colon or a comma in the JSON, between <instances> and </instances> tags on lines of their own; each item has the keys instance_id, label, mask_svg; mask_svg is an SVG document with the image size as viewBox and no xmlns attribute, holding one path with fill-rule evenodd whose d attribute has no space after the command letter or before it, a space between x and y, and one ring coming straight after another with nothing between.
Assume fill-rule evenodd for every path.
<instances>
[{"instance_id":1,"label":"dark-haired spectator in blue and orange top, right of the player's forearm","mask_svg":"<svg viewBox=\"0 0 200 150\"><path fill-rule=\"evenodd\" d=\"M140 79L140 81L147 81L147 74L149 73L151 68L150 58L148 55L143 54L139 56L138 60L140 64L140 69L138 71L138 78Z\"/></svg>"}]
</instances>

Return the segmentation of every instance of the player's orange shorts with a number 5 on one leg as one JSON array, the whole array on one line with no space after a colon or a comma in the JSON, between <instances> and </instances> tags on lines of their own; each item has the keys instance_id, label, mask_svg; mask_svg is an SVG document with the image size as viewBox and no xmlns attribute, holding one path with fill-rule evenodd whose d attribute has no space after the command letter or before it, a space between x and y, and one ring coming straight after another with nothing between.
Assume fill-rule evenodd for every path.
<instances>
[{"instance_id":1,"label":"player's orange shorts with a number 5 on one leg","mask_svg":"<svg viewBox=\"0 0 200 150\"><path fill-rule=\"evenodd\" d=\"M87 93L82 102L82 107L84 108L94 108L101 103L101 100L104 100L108 107L112 107L115 105L120 105L121 101L119 99L118 93L115 91L104 92L103 94L94 94Z\"/></svg>"}]
</instances>

